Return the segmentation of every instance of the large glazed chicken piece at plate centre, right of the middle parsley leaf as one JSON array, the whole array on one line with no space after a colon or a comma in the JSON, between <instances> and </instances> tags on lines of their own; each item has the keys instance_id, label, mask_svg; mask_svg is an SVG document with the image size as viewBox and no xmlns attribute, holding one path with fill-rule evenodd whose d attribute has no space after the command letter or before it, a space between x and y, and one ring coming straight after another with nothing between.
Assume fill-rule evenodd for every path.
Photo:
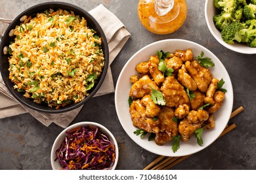
<instances>
[{"instance_id":1,"label":"large glazed chicken piece at plate centre, right of the middle parsley leaf","mask_svg":"<svg viewBox=\"0 0 256 183\"><path fill-rule=\"evenodd\" d=\"M189 98L183 86L174 76L167 76L161 85L161 92L165 98L167 107L178 107L181 104L189 104Z\"/></svg>"}]
</instances>

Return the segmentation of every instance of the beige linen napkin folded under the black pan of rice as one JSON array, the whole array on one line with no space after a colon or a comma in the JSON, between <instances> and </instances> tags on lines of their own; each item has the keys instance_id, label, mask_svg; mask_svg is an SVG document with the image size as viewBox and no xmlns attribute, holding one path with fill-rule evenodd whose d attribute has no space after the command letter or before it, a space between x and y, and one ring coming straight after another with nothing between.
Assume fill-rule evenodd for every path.
<instances>
[{"instance_id":1,"label":"beige linen napkin folded under the black pan of rice","mask_svg":"<svg viewBox=\"0 0 256 183\"><path fill-rule=\"evenodd\" d=\"M107 93L115 92L110 64L116 58L125 42L129 39L130 33L125 29L125 25L103 5L89 11L89 13L98 21L102 27L106 39L108 41L108 48L110 52L110 62L108 73L106 78L100 86L100 89L94 97L105 95ZM24 105L21 105L12 97L11 93L7 90L3 78L0 75L0 118L7 118L10 116L16 116L18 114L24 114L30 112L34 118L36 118L42 124L49 126L51 123L57 124L60 127L68 127L68 125L74 120L75 116L79 113L82 107L76 108L70 112L64 112L61 114L46 114L43 112L37 112Z\"/></svg>"}]
</instances>

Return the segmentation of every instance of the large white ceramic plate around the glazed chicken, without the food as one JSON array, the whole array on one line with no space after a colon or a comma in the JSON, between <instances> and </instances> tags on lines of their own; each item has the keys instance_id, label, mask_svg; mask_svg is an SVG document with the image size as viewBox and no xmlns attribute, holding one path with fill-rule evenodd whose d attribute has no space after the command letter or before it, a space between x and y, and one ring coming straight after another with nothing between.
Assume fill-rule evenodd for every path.
<instances>
[{"instance_id":1,"label":"large white ceramic plate around the glazed chicken, without the food","mask_svg":"<svg viewBox=\"0 0 256 183\"><path fill-rule=\"evenodd\" d=\"M188 142L181 141L179 150L173 153L171 149L171 142L168 142L163 146L158 146L154 141L148 141L148 138L140 139L140 136L137 136L133 133L137 127L133 126L131 115L129 113L129 104L127 102L129 91L131 89L131 82L129 81L129 77L131 75L138 74L137 71L135 71L135 66L141 61L147 61L150 56L156 54L157 50L173 53L177 49L186 50L188 48L192 49L194 57L200 56L200 53L203 51L205 57L209 57L213 60L215 67L210 68L211 73L215 78L223 78L225 81L223 88L228 90L228 92L226 93L223 106L215 113L215 127L211 130L203 132L203 146L199 146L196 142L196 138L192 137ZM121 125L123 126L123 129L125 129L129 137L131 137L133 141L139 144L139 146L154 154L159 154L162 156L186 156L188 154L194 154L195 152L203 150L203 148L209 146L209 144L214 142L224 130L224 127L228 123L230 114L232 112L233 89L230 77L228 76L228 73L223 64L212 52L207 50L207 48L191 41L182 39L167 39L145 46L137 53L135 53L129 59L129 61L127 61L117 80L115 102L117 116Z\"/></svg>"}]
</instances>

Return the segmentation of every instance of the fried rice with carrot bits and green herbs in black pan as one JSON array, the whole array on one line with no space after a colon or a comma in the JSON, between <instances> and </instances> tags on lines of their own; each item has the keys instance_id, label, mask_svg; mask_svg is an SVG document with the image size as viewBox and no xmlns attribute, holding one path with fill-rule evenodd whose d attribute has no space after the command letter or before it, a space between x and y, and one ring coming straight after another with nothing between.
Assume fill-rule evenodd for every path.
<instances>
[{"instance_id":1,"label":"fried rice with carrot bits and green herbs in black pan","mask_svg":"<svg viewBox=\"0 0 256 183\"><path fill-rule=\"evenodd\" d=\"M64 107L89 95L104 67L102 40L87 20L66 10L46 10L14 29L9 78L36 103Z\"/></svg>"}]
</instances>

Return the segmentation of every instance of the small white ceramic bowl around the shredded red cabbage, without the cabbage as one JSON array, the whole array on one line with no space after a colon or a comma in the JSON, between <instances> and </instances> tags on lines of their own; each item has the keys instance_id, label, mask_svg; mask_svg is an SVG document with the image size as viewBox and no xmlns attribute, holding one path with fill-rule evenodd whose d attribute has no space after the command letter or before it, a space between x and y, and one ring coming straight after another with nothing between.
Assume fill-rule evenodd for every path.
<instances>
[{"instance_id":1,"label":"small white ceramic bowl around the shredded red cabbage, without the cabbage","mask_svg":"<svg viewBox=\"0 0 256 183\"><path fill-rule=\"evenodd\" d=\"M119 156L119 152L118 152L118 145L117 145L117 141L114 137L114 135L103 125L101 124L97 124L95 122L79 122L77 124L73 124L70 125L69 127L67 127L66 129L64 129L59 135L58 137L56 137L54 143L53 143L53 147L51 150L51 165L53 170L59 170L60 169L60 164L58 163L58 160L54 161L54 159L56 159L56 150L58 148L60 148L60 145L62 144L62 142L64 141L66 135L66 131L70 131L71 129L77 128L79 126L91 126L91 127L99 127L100 131L102 131L102 133L104 133L105 135L107 135L107 137L110 139L111 142L114 143L115 145L115 149L116 149L116 159L114 162L114 165L112 166L112 170L116 169L116 165L117 165L117 161L118 161L118 156Z\"/></svg>"}]
</instances>

